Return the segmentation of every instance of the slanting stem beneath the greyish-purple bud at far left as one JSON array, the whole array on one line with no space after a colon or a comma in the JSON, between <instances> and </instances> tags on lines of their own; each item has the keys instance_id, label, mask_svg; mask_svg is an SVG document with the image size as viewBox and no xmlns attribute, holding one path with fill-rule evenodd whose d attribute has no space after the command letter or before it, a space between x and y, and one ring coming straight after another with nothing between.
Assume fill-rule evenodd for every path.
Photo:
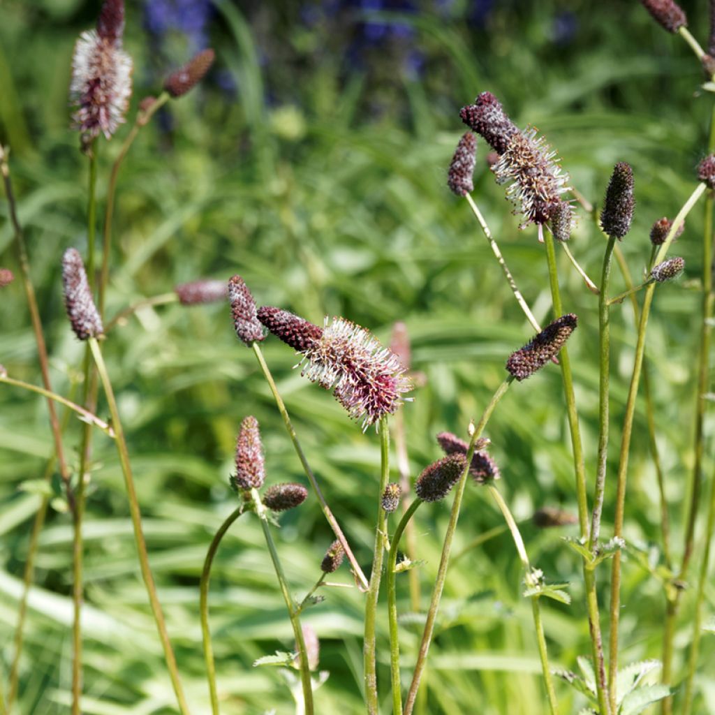
<instances>
[{"instance_id":1,"label":"slanting stem beneath the greyish-purple bud at far left","mask_svg":"<svg viewBox=\"0 0 715 715\"><path fill-rule=\"evenodd\" d=\"M142 514L139 511L139 500L137 499L137 490L134 487L132 465L129 462L129 450L127 449L127 441L124 439L124 429L122 428L122 422L119 418L119 410L117 410L117 401L114 399L114 390L112 390L112 383L109 381L109 374L107 373L106 365L104 365L104 359L102 358L102 351L99 349L99 343L94 337L89 338L88 342L89 348L90 350L92 350L92 357L94 358L94 363L95 365L97 365L97 372L99 373L99 378L102 380L104 395L106 395L107 397L109 413L112 415L112 426L114 427L114 432L117 435L117 453L119 454L119 462L122 465L124 483L127 487L129 513L132 516L132 526L134 527L134 541L137 544L137 553L139 555L139 566L141 567L142 578L144 579L144 585L147 587L149 603L152 606L154 621L156 621L157 623L157 631L159 631L159 638L162 641L162 647L164 649L164 660L166 661L167 669L169 670L169 676L172 680L174 693L176 694L177 703L179 704L179 711L181 711L182 715L188 715L189 707L187 705L181 681L179 679L179 671L177 669L176 657L174 656L171 641L169 641L167 625L164 622L164 613L162 612L162 606L161 603L159 603L159 597L157 596L157 586L154 583L152 569L149 566L147 542L144 541L144 533L142 531Z\"/></svg>"}]
</instances>

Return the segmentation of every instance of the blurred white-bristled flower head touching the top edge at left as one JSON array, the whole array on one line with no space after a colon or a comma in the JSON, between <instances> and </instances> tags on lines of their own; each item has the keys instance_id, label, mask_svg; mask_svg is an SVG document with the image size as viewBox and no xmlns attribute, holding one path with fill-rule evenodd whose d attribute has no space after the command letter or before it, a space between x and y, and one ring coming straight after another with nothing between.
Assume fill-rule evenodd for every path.
<instances>
[{"instance_id":1,"label":"blurred white-bristled flower head touching the top edge at left","mask_svg":"<svg viewBox=\"0 0 715 715\"><path fill-rule=\"evenodd\" d=\"M85 144L99 133L107 139L124 122L132 94L132 58L122 49L124 1L107 0L97 29L83 32L74 46L69 87L72 115Z\"/></svg>"}]
</instances>

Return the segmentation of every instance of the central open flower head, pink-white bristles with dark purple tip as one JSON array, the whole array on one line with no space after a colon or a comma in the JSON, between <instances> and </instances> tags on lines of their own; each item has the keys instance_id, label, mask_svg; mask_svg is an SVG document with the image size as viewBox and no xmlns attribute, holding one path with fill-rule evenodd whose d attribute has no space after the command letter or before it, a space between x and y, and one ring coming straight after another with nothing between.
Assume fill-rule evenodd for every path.
<instances>
[{"instance_id":1,"label":"central open flower head, pink-white bristles with dark purple tip","mask_svg":"<svg viewBox=\"0 0 715 715\"><path fill-rule=\"evenodd\" d=\"M301 375L332 390L350 417L363 420L363 430L395 413L412 388L398 356L349 320L326 317L320 328L274 307L262 307L258 319L302 354Z\"/></svg>"}]
</instances>

